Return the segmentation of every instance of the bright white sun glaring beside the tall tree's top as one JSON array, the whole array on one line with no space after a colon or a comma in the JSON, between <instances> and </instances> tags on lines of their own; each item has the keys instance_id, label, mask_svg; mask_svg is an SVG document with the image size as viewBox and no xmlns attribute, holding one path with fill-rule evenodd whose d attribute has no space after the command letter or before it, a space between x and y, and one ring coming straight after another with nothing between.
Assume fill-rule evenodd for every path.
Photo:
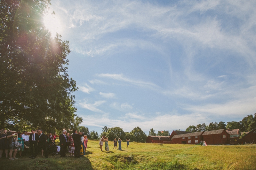
<instances>
[{"instance_id":1,"label":"bright white sun glaring beside the tall tree's top","mask_svg":"<svg viewBox=\"0 0 256 170\"><path fill-rule=\"evenodd\" d=\"M57 16L56 14L47 12L43 17L43 23L46 29L51 32L52 37L54 37L56 33L62 34L64 27L61 23L59 16Z\"/></svg>"}]
</instances>

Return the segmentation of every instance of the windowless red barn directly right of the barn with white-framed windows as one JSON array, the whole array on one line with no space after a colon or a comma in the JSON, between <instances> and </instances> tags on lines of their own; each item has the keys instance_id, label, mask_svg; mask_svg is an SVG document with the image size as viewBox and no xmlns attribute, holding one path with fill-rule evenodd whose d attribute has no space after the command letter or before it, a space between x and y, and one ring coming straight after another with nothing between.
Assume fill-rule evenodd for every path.
<instances>
[{"instance_id":1,"label":"windowless red barn directly right of the barn with white-framed windows","mask_svg":"<svg viewBox=\"0 0 256 170\"><path fill-rule=\"evenodd\" d=\"M228 144L230 142L230 135L225 129L206 131L202 136L206 144L210 145Z\"/></svg>"}]
</instances>

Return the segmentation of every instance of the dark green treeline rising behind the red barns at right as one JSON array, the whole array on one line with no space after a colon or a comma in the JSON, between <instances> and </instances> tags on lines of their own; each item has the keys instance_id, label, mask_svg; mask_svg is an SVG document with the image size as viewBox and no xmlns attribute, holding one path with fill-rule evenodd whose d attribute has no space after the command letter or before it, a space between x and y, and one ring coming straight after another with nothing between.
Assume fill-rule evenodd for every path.
<instances>
[{"instance_id":1,"label":"dark green treeline rising behind the red barns at right","mask_svg":"<svg viewBox=\"0 0 256 170\"><path fill-rule=\"evenodd\" d=\"M205 123L198 124L196 126L190 125L186 129L187 132L201 132L201 131L210 131L210 130L218 130L218 129L240 129L241 132L251 131L252 129L256 128L256 113L254 116L252 114L244 117L241 121L231 121L225 122L220 121L218 122L211 122L209 125Z\"/></svg>"}]
</instances>

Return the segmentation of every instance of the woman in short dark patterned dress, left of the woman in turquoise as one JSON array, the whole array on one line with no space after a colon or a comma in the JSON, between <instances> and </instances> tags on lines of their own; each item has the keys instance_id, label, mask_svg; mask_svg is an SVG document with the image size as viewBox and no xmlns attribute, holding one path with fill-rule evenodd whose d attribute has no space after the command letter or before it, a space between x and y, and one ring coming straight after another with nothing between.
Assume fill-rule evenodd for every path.
<instances>
[{"instance_id":1,"label":"woman in short dark patterned dress, left of the woman in turquoise","mask_svg":"<svg viewBox=\"0 0 256 170\"><path fill-rule=\"evenodd\" d=\"M10 152L9 152L10 158L9 159L10 160L18 159L15 157L16 153L17 153L17 147L15 146L15 140L17 140L17 138L18 138L17 133L12 134L12 132L7 132L7 134L6 134L5 140L9 144L9 149L10 149ZM13 156L12 156L12 152L13 152Z\"/></svg>"}]
</instances>

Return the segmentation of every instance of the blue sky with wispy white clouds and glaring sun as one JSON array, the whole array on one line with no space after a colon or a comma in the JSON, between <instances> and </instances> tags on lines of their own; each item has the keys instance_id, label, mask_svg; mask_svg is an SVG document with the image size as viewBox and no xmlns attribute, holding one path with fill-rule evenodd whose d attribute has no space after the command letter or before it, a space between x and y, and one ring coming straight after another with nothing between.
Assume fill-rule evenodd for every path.
<instances>
[{"instance_id":1,"label":"blue sky with wispy white clouds and glaring sun","mask_svg":"<svg viewBox=\"0 0 256 170\"><path fill-rule=\"evenodd\" d=\"M81 125L185 130L256 112L255 0L51 0ZM51 11L55 15L51 15Z\"/></svg>"}]
</instances>

